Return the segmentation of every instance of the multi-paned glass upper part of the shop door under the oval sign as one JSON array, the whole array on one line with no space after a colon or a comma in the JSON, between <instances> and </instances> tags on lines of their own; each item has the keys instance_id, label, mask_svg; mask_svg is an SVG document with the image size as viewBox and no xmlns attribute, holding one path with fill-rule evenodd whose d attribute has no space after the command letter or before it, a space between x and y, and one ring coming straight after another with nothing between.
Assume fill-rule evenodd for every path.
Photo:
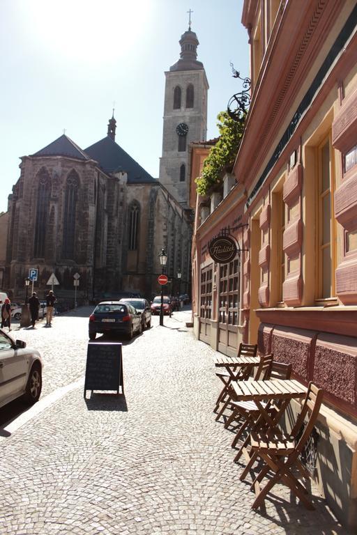
<instances>
[{"instance_id":1,"label":"multi-paned glass upper part of the shop door under the oval sign","mask_svg":"<svg viewBox=\"0 0 357 535\"><path fill-rule=\"evenodd\" d=\"M239 261L220 265L219 323L238 325L239 311Z\"/></svg>"}]
</instances>

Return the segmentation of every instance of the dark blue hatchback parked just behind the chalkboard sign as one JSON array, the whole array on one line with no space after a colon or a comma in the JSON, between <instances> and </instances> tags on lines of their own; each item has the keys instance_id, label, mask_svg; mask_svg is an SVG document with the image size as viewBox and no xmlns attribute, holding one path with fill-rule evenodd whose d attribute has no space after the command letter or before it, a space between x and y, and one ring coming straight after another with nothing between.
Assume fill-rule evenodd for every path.
<instances>
[{"instance_id":1,"label":"dark blue hatchback parked just behind the chalkboard sign","mask_svg":"<svg viewBox=\"0 0 357 535\"><path fill-rule=\"evenodd\" d=\"M129 303L103 301L97 304L89 316L89 338L96 334L125 334L132 339L133 334L142 332L142 313Z\"/></svg>"}]
</instances>

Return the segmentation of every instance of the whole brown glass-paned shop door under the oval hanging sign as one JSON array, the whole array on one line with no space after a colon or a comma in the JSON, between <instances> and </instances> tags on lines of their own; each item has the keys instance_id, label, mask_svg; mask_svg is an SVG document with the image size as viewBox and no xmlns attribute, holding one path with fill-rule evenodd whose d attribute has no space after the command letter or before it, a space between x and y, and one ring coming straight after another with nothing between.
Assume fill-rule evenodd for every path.
<instances>
[{"instance_id":1,"label":"whole brown glass-paned shop door under the oval hanging sign","mask_svg":"<svg viewBox=\"0 0 357 535\"><path fill-rule=\"evenodd\" d=\"M239 273L238 258L220 265L218 351L230 357L236 356L238 351Z\"/></svg>"}]
</instances>

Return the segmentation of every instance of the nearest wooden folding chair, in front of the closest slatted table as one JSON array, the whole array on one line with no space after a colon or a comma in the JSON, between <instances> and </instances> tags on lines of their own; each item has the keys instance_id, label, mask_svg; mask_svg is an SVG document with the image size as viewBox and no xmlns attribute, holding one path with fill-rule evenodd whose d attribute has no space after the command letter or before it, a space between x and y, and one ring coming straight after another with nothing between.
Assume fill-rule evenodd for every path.
<instances>
[{"instance_id":1,"label":"nearest wooden folding chair, in front of the closest slatted table","mask_svg":"<svg viewBox=\"0 0 357 535\"><path fill-rule=\"evenodd\" d=\"M257 509L257 507L264 503L268 492L280 480L289 486L291 491L301 499L301 502L303 502L307 509L314 509L310 498L307 496L307 490L298 481L292 470L297 468L305 479L310 477L309 472L307 472L301 463L299 456L314 428L321 408L323 395L323 390L318 389L316 385L310 382L305 401L301 407L301 413L298 415L296 424L289 435L282 433L278 428L269 429L267 433L252 431L250 434L252 456L248 465L243 470L240 479L242 481L245 479L245 476L247 476L257 458L261 458L265 463L252 483L252 488L255 488L256 493L252 509ZM309 415L307 424L303 429L303 433L301 433L301 428L304 425L307 414ZM271 476L271 479L268 479L266 486L261 489L259 483L261 483L264 477L268 476L269 472L273 472L273 476Z\"/></svg>"}]
</instances>

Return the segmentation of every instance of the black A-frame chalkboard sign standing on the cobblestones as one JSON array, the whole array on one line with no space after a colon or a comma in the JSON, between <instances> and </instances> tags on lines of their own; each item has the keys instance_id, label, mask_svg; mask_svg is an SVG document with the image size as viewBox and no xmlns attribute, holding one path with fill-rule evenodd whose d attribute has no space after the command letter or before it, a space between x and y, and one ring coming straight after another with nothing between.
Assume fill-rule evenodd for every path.
<instances>
[{"instance_id":1,"label":"black A-frame chalkboard sign standing on the cobblestones","mask_svg":"<svg viewBox=\"0 0 357 535\"><path fill-rule=\"evenodd\" d=\"M121 343L89 342L86 354L86 390L116 390L124 394Z\"/></svg>"}]
</instances>

